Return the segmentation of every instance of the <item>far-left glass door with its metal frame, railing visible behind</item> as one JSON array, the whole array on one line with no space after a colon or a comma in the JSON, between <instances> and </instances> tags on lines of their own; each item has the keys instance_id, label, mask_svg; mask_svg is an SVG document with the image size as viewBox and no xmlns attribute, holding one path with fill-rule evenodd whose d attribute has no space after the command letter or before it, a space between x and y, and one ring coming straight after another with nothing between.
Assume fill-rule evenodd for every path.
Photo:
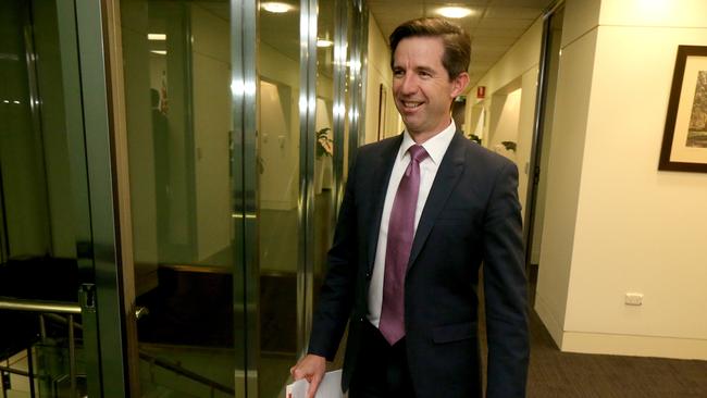
<instances>
[{"instance_id":1,"label":"far-left glass door with its metal frame, railing visible behind","mask_svg":"<svg viewBox=\"0 0 707 398\"><path fill-rule=\"evenodd\" d=\"M123 395L100 22L84 1L0 2L3 397Z\"/></svg>"}]
</instances>

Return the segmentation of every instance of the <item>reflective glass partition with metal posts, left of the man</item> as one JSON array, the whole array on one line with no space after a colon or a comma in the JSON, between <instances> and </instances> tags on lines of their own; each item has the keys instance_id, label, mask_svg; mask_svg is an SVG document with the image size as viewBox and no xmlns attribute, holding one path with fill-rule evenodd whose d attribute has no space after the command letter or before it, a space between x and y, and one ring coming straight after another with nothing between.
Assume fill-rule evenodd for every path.
<instances>
[{"instance_id":1,"label":"reflective glass partition with metal posts, left of the man","mask_svg":"<svg viewBox=\"0 0 707 398\"><path fill-rule=\"evenodd\" d=\"M139 396L284 397L358 137L355 11L120 3Z\"/></svg>"}]
</instances>

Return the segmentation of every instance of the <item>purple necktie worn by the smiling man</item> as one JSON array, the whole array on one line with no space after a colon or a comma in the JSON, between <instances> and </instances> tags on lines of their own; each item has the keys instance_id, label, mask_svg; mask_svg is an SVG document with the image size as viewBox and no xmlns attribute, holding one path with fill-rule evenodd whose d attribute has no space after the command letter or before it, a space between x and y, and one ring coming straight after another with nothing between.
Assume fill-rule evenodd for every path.
<instances>
[{"instance_id":1,"label":"purple necktie worn by the smiling man","mask_svg":"<svg viewBox=\"0 0 707 398\"><path fill-rule=\"evenodd\" d=\"M385 249L383 303L379 324L381 334L392 346L405 336L405 274L414 237L414 212L420 192L420 162L427 157L427 151L419 145L410 147L408 152L410 152L410 164L400 179L390 210L388 241Z\"/></svg>"}]
</instances>

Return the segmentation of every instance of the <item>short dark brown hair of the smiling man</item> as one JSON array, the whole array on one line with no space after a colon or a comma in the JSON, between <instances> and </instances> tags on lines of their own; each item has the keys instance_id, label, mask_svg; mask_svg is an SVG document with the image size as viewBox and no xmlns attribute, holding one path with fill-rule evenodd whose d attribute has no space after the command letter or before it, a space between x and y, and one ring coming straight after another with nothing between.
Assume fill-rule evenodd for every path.
<instances>
[{"instance_id":1,"label":"short dark brown hair of the smiling man","mask_svg":"<svg viewBox=\"0 0 707 398\"><path fill-rule=\"evenodd\" d=\"M411 20L398 26L389 37L390 66L395 62L395 49L400 40L408 37L439 37L444 45L442 64L454 79L469 69L471 60L471 38L459 25L439 17Z\"/></svg>"}]
</instances>

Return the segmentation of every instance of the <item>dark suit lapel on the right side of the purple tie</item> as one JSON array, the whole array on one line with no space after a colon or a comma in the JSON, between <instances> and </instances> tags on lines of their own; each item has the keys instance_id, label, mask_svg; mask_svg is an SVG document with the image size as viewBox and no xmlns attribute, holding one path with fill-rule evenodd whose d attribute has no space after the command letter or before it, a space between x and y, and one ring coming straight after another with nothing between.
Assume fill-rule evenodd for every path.
<instances>
[{"instance_id":1,"label":"dark suit lapel on the right side of the purple tie","mask_svg":"<svg viewBox=\"0 0 707 398\"><path fill-rule=\"evenodd\" d=\"M439 211L444 208L445 202L449 195L457 185L464 165L464 146L461 140L466 139L459 132L457 132L447 148L447 152L442 159L437 175L432 183L427 201L424 203L418 229L412 240L412 250L410 251L410 260L408 261L408 269L414 263L414 260L420 254L420 250L427 239L432 226L434 225Z\"/></svg>"}]
</instances>

